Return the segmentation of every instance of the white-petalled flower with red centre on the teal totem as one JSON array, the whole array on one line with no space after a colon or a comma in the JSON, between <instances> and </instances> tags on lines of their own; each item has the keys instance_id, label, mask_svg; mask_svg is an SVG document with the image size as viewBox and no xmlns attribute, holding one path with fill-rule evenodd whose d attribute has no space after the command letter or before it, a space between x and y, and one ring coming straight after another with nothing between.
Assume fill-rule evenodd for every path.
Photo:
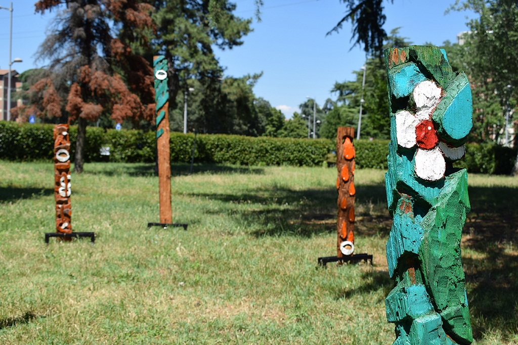
<instances>
[{"instance_id":1,"label":"white-petalled flower with red centre on the teal totem","mask_svg":"<svg viewBox=\"0 0 518 345\"><path fill-rule=\"evenodd\" d=\"M426 181L438 181L444 177L444 157L457 160L464 156L464 145L450 147L439 141L431 114L441 98L441 88L425 80L415 86L412 92L416 113L402 110L396 113L397 144L401 147L418 146L415 153L415 174Z\"/></svg>"}]
</instances>

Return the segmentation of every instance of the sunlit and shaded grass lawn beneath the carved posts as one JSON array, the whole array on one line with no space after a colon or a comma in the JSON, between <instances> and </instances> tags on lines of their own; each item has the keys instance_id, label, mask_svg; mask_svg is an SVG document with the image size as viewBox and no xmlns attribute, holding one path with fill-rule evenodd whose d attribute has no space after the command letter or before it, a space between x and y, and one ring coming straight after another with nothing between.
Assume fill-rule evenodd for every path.
<instances>
[{"instance_id":1,"label":"sunlit and shaded grass lawn beneath the carved posts","mask_svg":"<svg viewBox=\"0 0 518 345\"><path fill-rule=\"evenodd\" d=\"M336 169L174 164L159 221L153 164L72 175L55 231L53 164L0 162L1 344L391 344L383 171L356 170L356 252L336 255ZM518 178L470 175L463 263L475 343L518 343Z\"/></svg>"}]
</instances>

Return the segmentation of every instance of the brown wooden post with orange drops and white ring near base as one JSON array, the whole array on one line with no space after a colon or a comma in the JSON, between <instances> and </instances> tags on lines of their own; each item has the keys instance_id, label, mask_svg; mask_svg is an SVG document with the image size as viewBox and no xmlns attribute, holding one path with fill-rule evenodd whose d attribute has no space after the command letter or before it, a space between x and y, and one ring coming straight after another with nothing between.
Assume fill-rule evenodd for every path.
<instances>
[{"instance_id":1,"label":"brown wooden post with orange drops and white ring near base","mask_svg":"<svg viewBox=\"0 0 518 345\"><path fill-rule=\"evenodd\" d=\"M336 167L338 178L337 257L351 255L354 251L354 128L338 127L336 134Z\"/></svg>"}]
</instances>

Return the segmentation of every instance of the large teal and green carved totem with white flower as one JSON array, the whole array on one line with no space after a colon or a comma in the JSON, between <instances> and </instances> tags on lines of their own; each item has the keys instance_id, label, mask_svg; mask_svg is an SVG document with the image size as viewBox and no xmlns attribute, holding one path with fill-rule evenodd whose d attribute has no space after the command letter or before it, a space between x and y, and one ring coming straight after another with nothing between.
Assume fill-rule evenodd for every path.
<instances>
[{"instance_id":1,"label":"large teal and green carved totem with white flower","mask_svg":"<svg viewBox=\"0 0 518 345\"><path fill-rule=\"evenodd\" d=\"M452 162L465 153L471 89L439 48L384 53L391 111L385 185L394 218L386 256L396 283L385 304L394 344L470 344L460 247L468 176Z\"/></svg>"}]
</instances>

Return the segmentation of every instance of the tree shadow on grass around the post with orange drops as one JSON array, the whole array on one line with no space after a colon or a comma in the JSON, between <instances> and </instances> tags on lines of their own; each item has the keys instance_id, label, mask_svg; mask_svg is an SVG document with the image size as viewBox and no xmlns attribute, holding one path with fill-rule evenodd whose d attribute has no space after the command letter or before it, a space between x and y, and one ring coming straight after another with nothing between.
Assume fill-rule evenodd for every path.
<instances>
[{"instance_id":1,"label":"tree shadow on grass around the post with orange drops","mask_svg":"<svg viewBox=\"0 0 518 345\"><path fill-rule=\"evenodd\" d=\"M384 186L361 186L356 190L357 194L363 193L355 206L357 233L388 233L392 219L386 206L380 203L385 199ZM237 220L240 227L252 229L250 234L255 237L311 237L336 232L337 192L333 187L305 190L272 187L248 190L239 196L232 193L193 193L191 196L226 204L228 215ZM219 214L222 211L205 212Z\"/></svg>"}]
</instances>

